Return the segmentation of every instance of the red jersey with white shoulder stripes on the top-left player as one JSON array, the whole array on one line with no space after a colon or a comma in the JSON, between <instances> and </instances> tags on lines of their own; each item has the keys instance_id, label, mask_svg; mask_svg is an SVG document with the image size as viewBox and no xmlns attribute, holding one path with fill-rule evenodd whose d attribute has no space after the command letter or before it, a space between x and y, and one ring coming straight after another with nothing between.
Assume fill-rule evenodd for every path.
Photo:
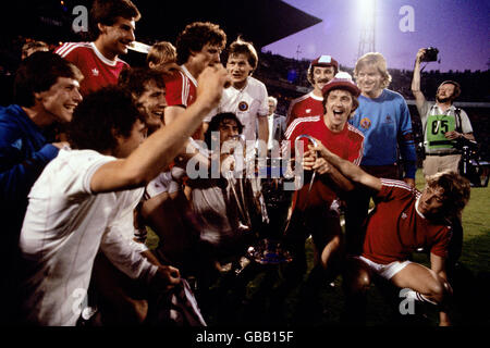
<instances>
[{"instance_id":1,"label":"red jersey with white shoulder stripes on the top-left player","mask_svg":"<svg viewBox=\"0 0 490 348\"><path fill-rule=\"evenodd\" d=\"M94 42L66 42L54 50L69 62L75 64L84 79L79 84L82 96L102 87L117 85L119 74L130 65L117 59L110 61L100 53Z\"/></svg>"}]
</instances>

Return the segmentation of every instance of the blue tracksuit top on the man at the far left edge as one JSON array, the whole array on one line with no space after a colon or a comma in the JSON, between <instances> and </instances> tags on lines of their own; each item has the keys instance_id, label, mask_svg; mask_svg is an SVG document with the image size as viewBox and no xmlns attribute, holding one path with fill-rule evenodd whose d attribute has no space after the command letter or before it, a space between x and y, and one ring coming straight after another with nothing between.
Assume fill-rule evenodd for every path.
<instances>
[{"instance_id":1,"label":"blue tracksuit top on the man at the far left edge","mask_svg":"<svg viewBox=\"0 0 490 348\"><path fill-rule=\"evenodd\" d=\"M22 227L32 186L57 156L20 105L0 107L0 216L13 232Z\"/></svg>"}]
</instances>

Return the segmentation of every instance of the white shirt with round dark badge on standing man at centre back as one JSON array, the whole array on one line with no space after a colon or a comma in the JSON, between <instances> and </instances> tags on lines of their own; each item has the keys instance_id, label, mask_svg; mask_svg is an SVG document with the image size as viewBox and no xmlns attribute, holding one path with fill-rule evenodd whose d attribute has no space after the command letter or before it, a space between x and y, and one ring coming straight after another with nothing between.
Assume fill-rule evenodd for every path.
<instances>
[{"instance_id":1,"label":"white shirt with round dark badge on standing man at centre back","mask_svg":"<svg viewBox=\"0 0 490 348\"><path fill-rule=\"evenodd\" d=\"M248 76L247 85L243 89L236 89L231 86L223 89L221 101L206 122L211 121L212 116L222 112L234 113L243 124L242 136L245 140L256 140L257 117L267 116L269 113L269 101L266 85L258 79Z\"/></svg>"}]
</instances>

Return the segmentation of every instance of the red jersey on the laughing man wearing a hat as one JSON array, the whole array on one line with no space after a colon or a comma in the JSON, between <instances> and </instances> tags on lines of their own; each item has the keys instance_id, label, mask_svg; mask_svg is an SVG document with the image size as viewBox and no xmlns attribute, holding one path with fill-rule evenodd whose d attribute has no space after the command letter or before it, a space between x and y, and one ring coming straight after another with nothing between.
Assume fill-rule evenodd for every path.
<instances>
[{"instance_id":1,"label":"red jersey on the laughing man wearing a hat","mask_svg":"<svg viewBox=\"0 0 490 348\"><path fill-rule=\"evenodd\" d=\"M324 124L323 116L295 120L285 133L285 138L289 140L292 153L294 153L294 140L303 134L320 140L330 151L356 165L359 165L363 159L364 135L348 123L345 124L342 132L333 133ZM307 150L306 141L306 139L302 141L303 151ZM283 145L286 145L286 142ZM283 147L283 152L285 148ZM324 206L326 202L331 203L336 197L335 192L317 177L307 198L307 202L305 202L308 188L309 178L305 177L303 188L297 192L296 197L296 207L301 210L307 207Z\"/></svg>"}]
</instances>

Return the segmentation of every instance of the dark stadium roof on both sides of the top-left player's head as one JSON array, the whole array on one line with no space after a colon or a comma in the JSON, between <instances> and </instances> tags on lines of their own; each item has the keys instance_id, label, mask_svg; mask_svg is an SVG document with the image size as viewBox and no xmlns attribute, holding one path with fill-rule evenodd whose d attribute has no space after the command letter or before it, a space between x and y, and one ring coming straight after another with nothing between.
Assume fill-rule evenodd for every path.
<instances>
[{"instance_id":1,"label":"dark stadium roof on both sides of the top-left player's head","mask_svg":"<svg viewBox=\"0 0 490 348\"><path fill-rule=\"evenodd\" d=\"M76 18L76 5L90 8L93 0L34 0L9 1L8 33L35 39L74 40L70 34ZM188 23L209 21L219 24L234 40L237 35L250 40L257 48L301 32L321 20L281 0L208 0L208 1L145 1L133 0L142 12L136 26L138 41L174 42L176 35Z\"/></svg>"}]
</instances>

